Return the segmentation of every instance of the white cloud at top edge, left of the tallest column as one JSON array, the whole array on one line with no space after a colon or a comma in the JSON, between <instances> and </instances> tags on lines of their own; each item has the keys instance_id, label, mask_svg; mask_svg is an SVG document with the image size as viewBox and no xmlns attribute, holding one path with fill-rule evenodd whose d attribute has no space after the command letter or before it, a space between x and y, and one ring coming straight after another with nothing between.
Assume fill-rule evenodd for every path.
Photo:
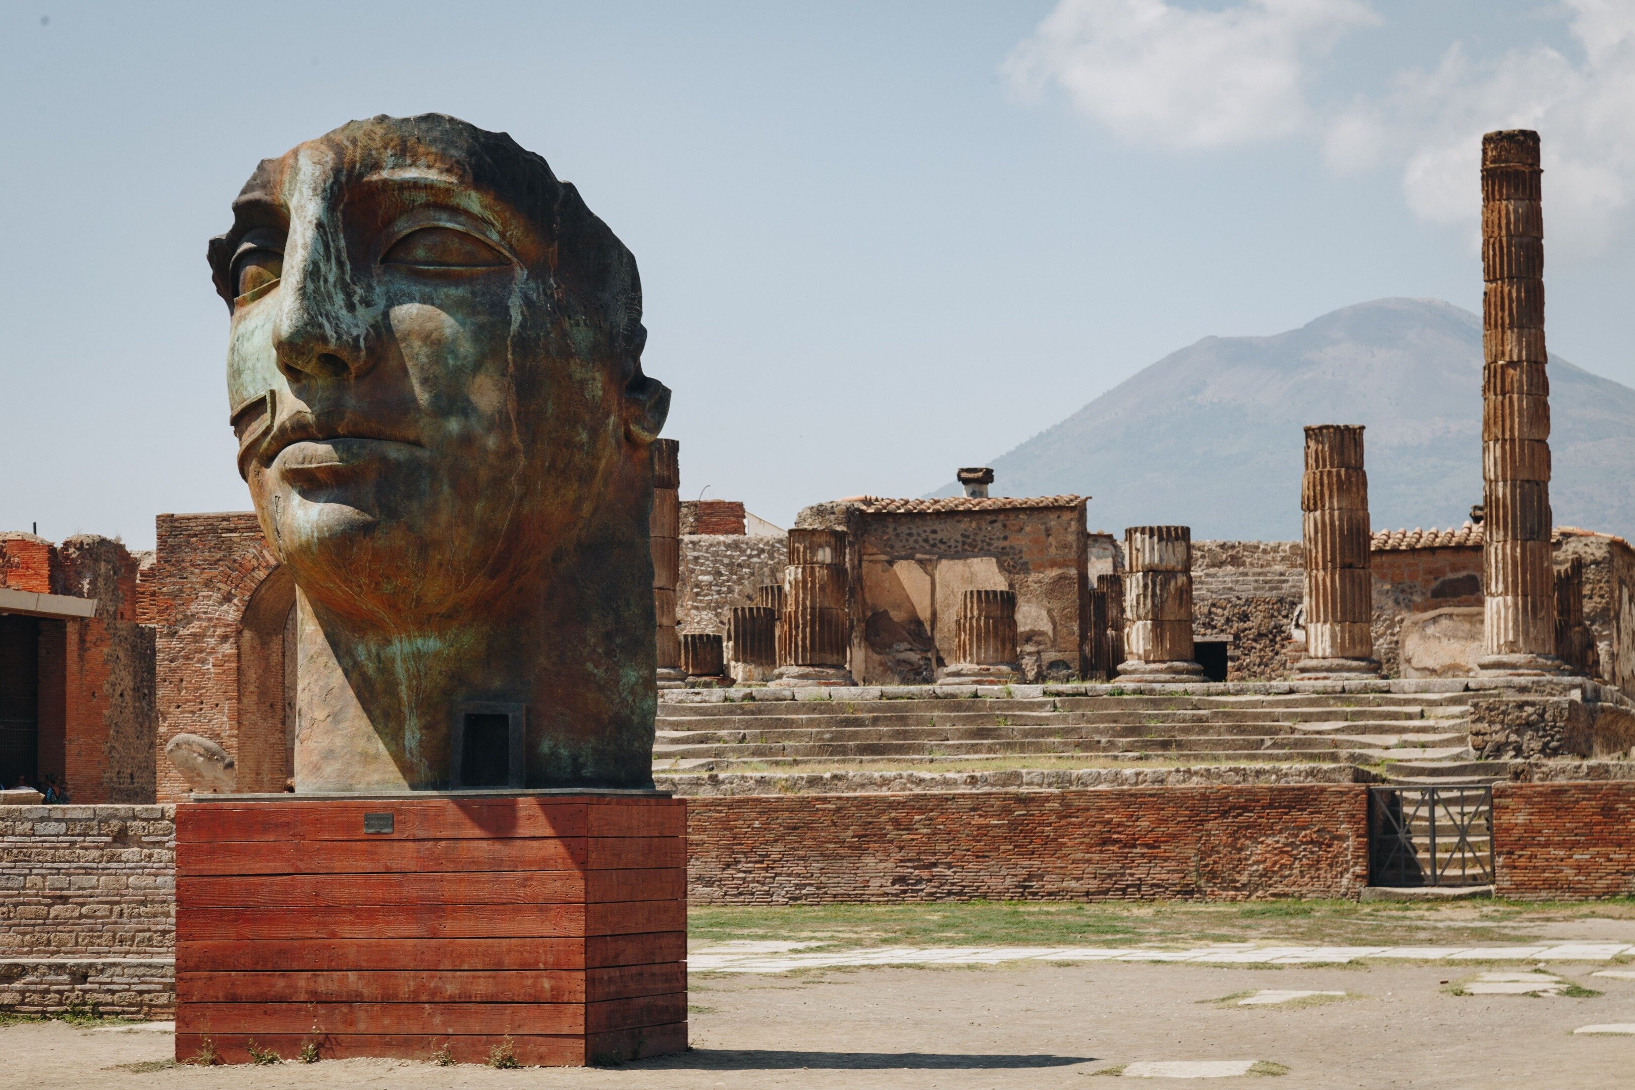
<instances>
[{"instance_id":1,"label":"white cloud at top edge, left of the tallest column","mask_svg":"<svg viewBox=\"0 0 1635 1090\"><path fill-rule=\"evenodd\" d=\"M1061 0L1004 62L1014 87L1063 90L1133 142L1221 147L1295 132L1306 65L1373 21L1359 0L1249 0L1198 11L1164 0Z\"/></svg>"}]
</instances>

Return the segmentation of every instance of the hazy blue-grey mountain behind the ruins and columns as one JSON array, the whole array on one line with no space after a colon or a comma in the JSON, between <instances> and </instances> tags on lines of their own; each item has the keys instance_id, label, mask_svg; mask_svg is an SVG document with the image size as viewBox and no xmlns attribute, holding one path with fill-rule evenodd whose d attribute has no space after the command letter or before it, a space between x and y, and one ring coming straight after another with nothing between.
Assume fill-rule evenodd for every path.
<instances>
[{"instance_id":1,"label":"hazy blue-grey mountain behind the ruins and columns","mask_svg":"<svg viewBox=\"0 0 1635 1090\"><path fill-rule=\"evenodd\" d=\"M1555 521L1635 539L1635 389L1550 360ZM1377 299L1275 337L1205 337L992 466L994 495L1081 494L1091 528L1300 536L1308 423L1362 423L1377 529L1481 502L1481 319ZM955 495L945 485L934 495Z\"/></svg>"}]
</instances>

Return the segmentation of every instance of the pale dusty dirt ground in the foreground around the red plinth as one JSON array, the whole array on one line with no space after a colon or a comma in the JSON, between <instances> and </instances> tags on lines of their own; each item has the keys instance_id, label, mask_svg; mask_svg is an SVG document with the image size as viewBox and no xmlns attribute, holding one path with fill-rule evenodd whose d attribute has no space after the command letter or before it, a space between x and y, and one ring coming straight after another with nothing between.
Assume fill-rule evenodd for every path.
<instances>
[{"instance_id":1,"label":"pale dusty dirt ground in the foreground around the red plinth","mask_svg":"<svg viewBox=\"0 0 1635 1090\"><path fill-rule=\"evenodd\" d=\"M1548 969L1601 995L1454 995L1507 964L1218 967L1010 964L847 969L811 976L695 974L683 1056L616 1069L433 1067L322 1061L278 1067L167 1067L154 1031L25 1023L0 1030L0 1087L1084 1087L1136 1061L1269 1061L1274 1087L1627 1088L1635 1038L1573 1036L1635 1023L1635 981L1604 964ZM1628 969L1628 966L1622 966ZM1339 990L1290 1007L1220 1003L1257 989ZM144 1070L147 1067L149 1070ZM1267 1077L1238 1080L1267 1083ZM1164 1085L1164 1083L1158 1083ZM1231 1083L1208 1083L1231 1085Z\"/></svg>"}]
</instances>

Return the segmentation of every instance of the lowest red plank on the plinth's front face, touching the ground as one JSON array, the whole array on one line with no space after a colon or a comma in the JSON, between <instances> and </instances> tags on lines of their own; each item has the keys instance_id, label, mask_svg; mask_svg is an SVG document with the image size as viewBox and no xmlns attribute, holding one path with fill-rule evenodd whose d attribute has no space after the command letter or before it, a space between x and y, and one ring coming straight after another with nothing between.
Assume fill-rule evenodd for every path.
<instances>
[{"instance_id":1,"label":"lowest red plank on the plinth's front face, touching the ground","mask_svg":"<svg viewBox=\"0 0 1635 1090\"><path fill-rule=\"evenodd\" d=\"M633 1031L623 1031L631 1036ZM258 1049L268 1049L283 1059L294 1059L309 1041L317 1044L320 1059L353 1059L353 1057L389 1057L430 1061L433 1054L448 1048L456 1064L484 1064L495 1048L505 1044L505 1034L461 1034L428 1038L422 1033L178 1033L177 1061L186 1062L199 1054L204 1038L209 1036L211 1048L226 1064L249 1064L247 1044L255 1041ZM672 1034L674 1036L674 1034ZM685 1048L685 1043L683 1046ZM585 1038L582 1034L512 1034L512 1056L525 1067L582 1067L589 1062ZM680 1051L680 1049L670 1049ZM662 1056L665 1052L646 1052L646 1056Z\"/></svg>"}]
</instances>

